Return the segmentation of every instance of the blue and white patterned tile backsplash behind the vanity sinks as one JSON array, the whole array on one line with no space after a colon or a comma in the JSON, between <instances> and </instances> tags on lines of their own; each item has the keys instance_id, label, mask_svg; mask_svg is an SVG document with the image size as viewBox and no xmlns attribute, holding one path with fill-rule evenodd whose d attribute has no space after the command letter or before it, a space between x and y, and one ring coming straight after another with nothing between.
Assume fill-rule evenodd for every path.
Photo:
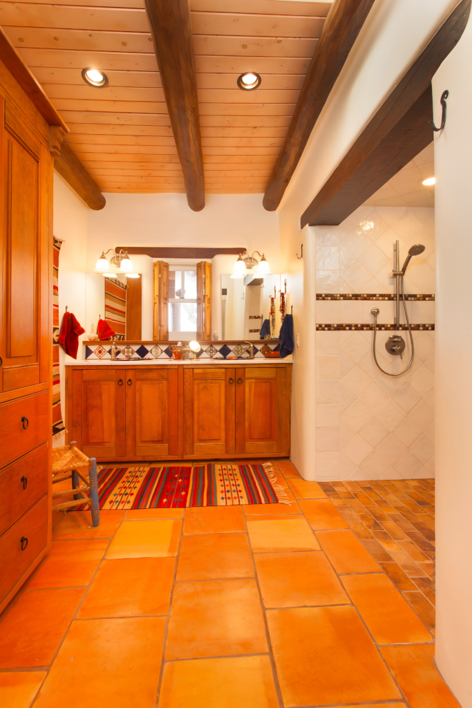
<instances>
[{"instance_id":1,"label":"blue and white patterned tile backsplash behind the vanity sinks","mask_svg":"<svg viewBox=\"0 0 472 708\"><path fill-rule=\"evenodd\" d=\"M257 330L259 331L259 330ZM171 359L171 343L165 349L161 348L159 344L152 346L144 344L127 344L124 346L117 355L118 361L139 361L142 359L153 360L153 359ZM274 350L279 346L278 341L272 340L260 340L260 346L254 345L255 353L254 358L264 359L265 354ZM224 343L218 343L217 341L212 341L211 344L205 343L197 357L200 359L248 359L248 352L243 349L240 342L230 342L229 345ZM111 359L110 354L110 342L101 342L97 344L86 344L85 346L85 358L88 360L109 360ZM182 355L183 359L188 358L188 352L184 352Z\"/></svg>"}]
</instances>

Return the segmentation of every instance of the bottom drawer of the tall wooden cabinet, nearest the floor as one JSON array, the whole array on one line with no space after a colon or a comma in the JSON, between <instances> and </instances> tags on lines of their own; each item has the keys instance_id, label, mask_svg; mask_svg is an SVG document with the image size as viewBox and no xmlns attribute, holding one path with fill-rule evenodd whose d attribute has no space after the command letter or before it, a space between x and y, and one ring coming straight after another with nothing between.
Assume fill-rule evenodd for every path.
<instances>
[{"instance_id":1,"label":"bottom drawer of the tall wooden cabinet, nearest the floor","mask_svg":"<svg viewBox=\"0 0 472 708\"><path fill-rule=\"evenodd\" d=\"M24 551L21 549L21 539ZM0 603L47 545L47 496L0 537Z\"/></svg>"}]
</instances>

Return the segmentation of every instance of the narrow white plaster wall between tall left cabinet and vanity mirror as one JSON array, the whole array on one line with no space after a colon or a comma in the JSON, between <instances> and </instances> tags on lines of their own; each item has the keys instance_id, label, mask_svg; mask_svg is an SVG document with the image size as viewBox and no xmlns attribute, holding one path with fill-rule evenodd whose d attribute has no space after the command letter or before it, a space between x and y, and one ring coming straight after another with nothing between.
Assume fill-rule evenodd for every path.
<instances>
[{"instance_id":1,"label":"narrow white plaster wall between tall left cabinet and vanity mirror","mask_svg":"<svg viewBox=\"0 0 472 708\"><path fill-rule=\"evenodd\" d=\"M64 239L59 251L59 326L66 305L85 328L86 325L86 252L87 212L82 202L57 172L54 172L54 236ZM84 339L81 336L80 341ZM79 343L79 358L82 345ZM59 346L62 418L65 422L65 367L71 358ZM64 445L64 435L54 439L54 447Z\"/></svg>"}]
</instances>

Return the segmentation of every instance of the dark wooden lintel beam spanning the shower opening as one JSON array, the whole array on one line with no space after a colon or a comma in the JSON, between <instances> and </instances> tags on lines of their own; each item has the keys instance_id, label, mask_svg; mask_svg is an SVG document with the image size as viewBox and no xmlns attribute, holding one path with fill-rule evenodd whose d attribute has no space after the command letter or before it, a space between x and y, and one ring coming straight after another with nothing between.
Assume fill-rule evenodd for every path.
<instances>
[{"instance_id":1,"label":"dark wooden lintel beam spanning the shower opening","mask_svg":"<svg viewBox=\"0 0 472 708\"><path fill-rule=\"evenodd\" d=\"M459 42L470 12L471 0L454 8L301 215L302 229L343 222L432 141L431 79Z\"/></svg>"}]
</instances>

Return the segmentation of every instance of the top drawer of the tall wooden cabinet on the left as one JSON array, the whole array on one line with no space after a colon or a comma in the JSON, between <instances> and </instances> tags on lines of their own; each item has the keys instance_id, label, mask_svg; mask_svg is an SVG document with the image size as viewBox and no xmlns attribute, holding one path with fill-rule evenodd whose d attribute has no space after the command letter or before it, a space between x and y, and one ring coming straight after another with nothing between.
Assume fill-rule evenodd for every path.
<instances>
[{"instance_id":1,"label":"top drawer of the tall wooden cabinet on the left","mask_svg":"<svg viewBox=\"0 0 472 708\"><path fill-rule=\"evenodd\" d=\"M0 460L7 464L48 437L49 394L44 391L0 406ZM22 420L25 418L25 421ZM28 422L26 422L28 421ZM27 426L26 428L24 426Z\"/></svg>"}]
</instances>

